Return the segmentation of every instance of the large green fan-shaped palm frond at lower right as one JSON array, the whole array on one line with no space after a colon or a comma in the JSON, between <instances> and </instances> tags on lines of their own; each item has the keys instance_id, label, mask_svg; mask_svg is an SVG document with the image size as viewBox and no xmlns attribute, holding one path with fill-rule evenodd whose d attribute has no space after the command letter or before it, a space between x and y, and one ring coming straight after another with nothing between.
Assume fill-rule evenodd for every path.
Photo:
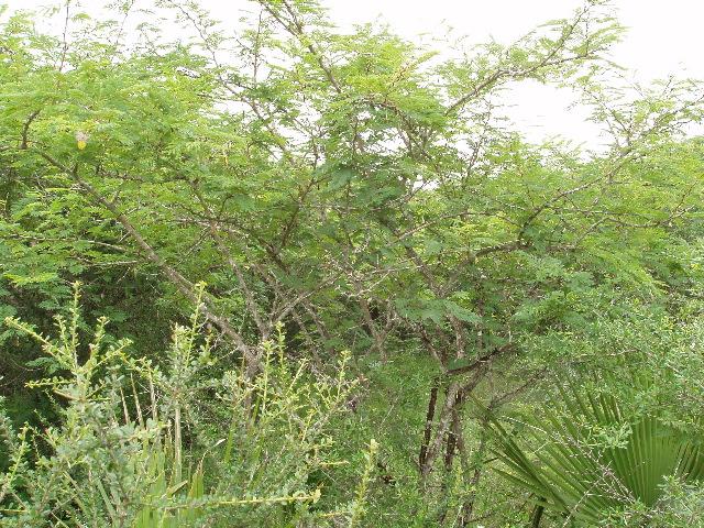
<instances>
[{"instance_id":1,"label":"large green fan-shaped palm frond at lower right","mask_svg":"<svg viewBox=\"0 0 704 528\"><path fill-rule=\"evenodd\" d=\"M634 504L657 507L667 477L683 483L704 479L697 439L657 413L632 417L614 396L584 394L576 386L561 389L560 396L544 406L539 422L522 429L520 440L488 416L496 454L506 466L499 473L536 503L532 526L539 526L543 510L600 525L609 513Z\"/></svg>"}]
</instances>

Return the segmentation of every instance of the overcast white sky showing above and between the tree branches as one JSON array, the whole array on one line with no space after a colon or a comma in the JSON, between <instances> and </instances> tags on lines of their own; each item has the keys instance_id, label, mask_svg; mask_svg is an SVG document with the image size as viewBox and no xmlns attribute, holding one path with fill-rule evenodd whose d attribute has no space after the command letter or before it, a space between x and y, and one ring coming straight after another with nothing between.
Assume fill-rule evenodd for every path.
<instances>
[{"instance_id":1,"label":"overcast white sky showing above and between the tree branches","mask_svg":"<svg viewBox=\"0 0 704 528\"><path fill-rule=\"evenodd\" d=\"M100 0L84 0L84 6ZM6 0L11 9L54 3L51 0ZM2 3L2 0L0 0ZM148 6L151 0L138 0ZM237 20L249 7L246 0L201 0L201 4L223 20ZM387 22L403 36L443 36L448 26L470 42L494 37L510 42L536 25L569 16L582 0L322 0L333 21L341 26L374 21ZM634 70L637 79L681 77L704 79L702 35L703 0L615 0L620 23L629 28L624 42L614 47L614 59ZM585 122L585 111L568 111L573 101L569 90L522 84L512 102L512 114L529 139L561 135L596 147L598 130Z\"/></svg>"}]
</instances>

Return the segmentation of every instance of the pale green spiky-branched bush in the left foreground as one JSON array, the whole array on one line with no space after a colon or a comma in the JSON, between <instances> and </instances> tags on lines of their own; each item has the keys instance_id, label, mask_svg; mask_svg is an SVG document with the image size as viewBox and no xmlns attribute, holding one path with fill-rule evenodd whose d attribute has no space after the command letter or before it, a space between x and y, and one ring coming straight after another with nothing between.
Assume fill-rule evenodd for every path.
<instances>
[{"instance_id":1,"label":"pale green spiky-branched bush in the left foreground","mask_svg":"<svg viewBox=\"0 0 704 528\"><path fill-rule=\"evenodd\" d=\"M129 341L106 332L106 318L85 345L77 292L70 314L56 318L55 339L6 320L41 344L47 377L31 386L58 399L61 420L15 433L0 415L11 453L2 526L293 526L361 516L369 475L339 512L316 510L321 488L310 480L334 462L328 424L354 387L345 358L336 378L314 382L305 361L284 358L279 332L262 344L255 380L243 371L210 377L221 359L198 310L189 327L174 327L163 366L132 358Z\"/></svg>"}]
</instances>

